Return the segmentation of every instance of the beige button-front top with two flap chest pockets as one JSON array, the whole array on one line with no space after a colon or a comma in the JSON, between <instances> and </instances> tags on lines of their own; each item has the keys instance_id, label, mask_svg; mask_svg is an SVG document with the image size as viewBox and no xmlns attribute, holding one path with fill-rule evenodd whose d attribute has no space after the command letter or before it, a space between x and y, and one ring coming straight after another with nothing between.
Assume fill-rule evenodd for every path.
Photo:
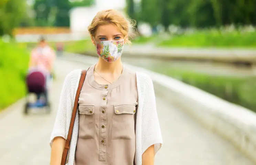
<instances>
[{"instance_id":1,"label":"beige button-front top with two flap chest pockets","mask_svg":"<svg viewBox=\"0 0 256 165\"><path fill-rule=\"evenodd\" d=\"M136 74L124 67L112 84L100 85L89 68L79 96L76 165L133 165Z\"/></svg>"}]
</instances>

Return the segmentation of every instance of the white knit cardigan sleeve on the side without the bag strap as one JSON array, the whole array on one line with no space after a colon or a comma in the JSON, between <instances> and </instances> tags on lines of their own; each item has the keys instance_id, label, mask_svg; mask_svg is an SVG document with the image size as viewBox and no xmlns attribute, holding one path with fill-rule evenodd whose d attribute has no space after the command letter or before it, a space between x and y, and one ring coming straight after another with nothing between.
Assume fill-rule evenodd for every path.
<instances>
[{"instance_id":1,"label":"white knit cardigan sleeve on the side without the bag strap","mask_svg":"<svg viewBox=\"0 0 256 165\"><path fill-rule=\"evenodd\" d=\"M155 154L162 146L162 135L159 125L159 119L156 109L156 97L151 78L142 74L141 76L141 93L142 93L142 154L151 146L154 145Z\"/></svg>"}]
</instances>

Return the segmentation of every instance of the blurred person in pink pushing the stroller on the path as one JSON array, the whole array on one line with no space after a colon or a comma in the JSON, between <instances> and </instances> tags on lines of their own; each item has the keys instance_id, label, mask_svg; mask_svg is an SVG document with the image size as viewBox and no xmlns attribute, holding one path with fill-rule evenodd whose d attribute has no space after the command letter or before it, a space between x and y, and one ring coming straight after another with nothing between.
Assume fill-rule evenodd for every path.
<instances>
[{"instance_id":1,"label":"blurred person in pink pushing the stroller on the path","mask_svg":"<svg viewBox=\"0 0 256 165\"><path fill-rule=\"evenodd\" d=\"M55 60L54 50L46 43L43 36L40 37L38 45L31 51L29 62L29 73L33 71L41 71L46 76L46 88L49 89ZM47 102L47 91L44 94ZM40 94L37 94L37 99L40 99Z\"/></svg>"}]
</instances>

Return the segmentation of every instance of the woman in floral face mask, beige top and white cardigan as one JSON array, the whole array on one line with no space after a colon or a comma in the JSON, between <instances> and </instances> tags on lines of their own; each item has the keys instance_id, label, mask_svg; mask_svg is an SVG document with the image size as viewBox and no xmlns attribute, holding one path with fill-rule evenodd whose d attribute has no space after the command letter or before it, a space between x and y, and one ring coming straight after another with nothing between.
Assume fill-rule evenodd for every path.
<instances>
[{"instance_id":1,"label":"woman in floral face mask, beige top and white cardigan","mask_svg":"<svg viewBox=\"0 0 256 165\"><path fill-rule=\"evenodd\" d=\"M152 80L122 65L129 22L98 12L88 27L99 60L79 95L68 165L153 165L162 137ZM51 135L51 165L60 165L81 70L67 75Z\"/></svg>"}]
</instances>

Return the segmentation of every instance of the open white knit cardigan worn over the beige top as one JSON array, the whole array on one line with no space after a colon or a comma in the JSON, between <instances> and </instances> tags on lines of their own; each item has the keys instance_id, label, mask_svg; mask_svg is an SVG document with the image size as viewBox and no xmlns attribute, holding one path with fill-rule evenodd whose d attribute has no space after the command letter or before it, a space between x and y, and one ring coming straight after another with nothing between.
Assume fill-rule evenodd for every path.
<instances>
[{"instance_id":1,"label":"open white knit cardigan worn over the beige top","mask_svg":"<svg viewBox=\"0 0 256 165\"><path fill-rule=\"evenodd\" d=\"M81 70L70 72L64 81L60 103L55 119L53 131L51 134L50 145L52 146L55 137L67 138L70 126L72 110L74 107L75 94L78 88ZM142 154L154 145L154 151L162 146L162 135L159 126L159 120L156 110L156 100L151 78L145 73L136 72L138 89L138 110L136 119L136 165L142 165ZM75 150L78 137L78 112L75 117L70 151L66 161L67 165L73 165L75 159Z\"/></svg>"}]
</instances>

